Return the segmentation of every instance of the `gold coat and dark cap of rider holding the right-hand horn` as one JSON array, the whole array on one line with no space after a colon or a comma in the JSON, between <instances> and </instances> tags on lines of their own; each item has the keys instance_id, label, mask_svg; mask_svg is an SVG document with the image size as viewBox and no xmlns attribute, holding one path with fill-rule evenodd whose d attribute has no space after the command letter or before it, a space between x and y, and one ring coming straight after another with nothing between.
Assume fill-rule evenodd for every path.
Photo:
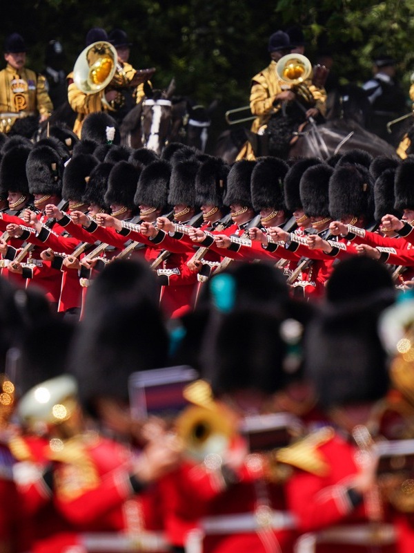
<instances>
[{"instance_id":1,"label":"gold coat and dark cap of rider holding the right-hand horn","mask_svg":"<svg viewBox=\"0 0 414 553\"><path fill-rule=\"evenodd\" d=\"M256 115L251 126L253 133L261 133L264 125L268 123L273 115L282 110L284 102L290 102L290 105L297 100L298 95L293 89L281 86L281 81L276 72L277 62L284 55L289 54L293 50L293 45L290 44L290 37L286 32L278 30L270 36L268 42L268 51L270 53L271 62L266 68L257 73L252 79L250 88L250 110L253 115ZM324 88L315 86L311 79L304 81L308 93L313 97L311 104L305 107L302 121L308 118L317 118L320 114L326 112L325 100L326 92ZM242 148L237 159L255 159L255 154L250 143Z\"/></svg>"}]
</instances>

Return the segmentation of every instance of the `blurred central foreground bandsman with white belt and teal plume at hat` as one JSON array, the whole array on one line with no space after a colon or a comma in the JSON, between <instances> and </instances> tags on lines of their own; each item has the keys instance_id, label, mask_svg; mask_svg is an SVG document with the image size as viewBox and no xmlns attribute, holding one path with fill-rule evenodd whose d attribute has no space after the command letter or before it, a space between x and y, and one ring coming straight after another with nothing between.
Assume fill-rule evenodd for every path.
<instances>
[{"instance_id":1,"label":"blurred central foreground bandsman with white belt and teal plume at hat","mask_svg":"<svg viewBox=\"0 0 414 553\"><path fill-rule=\"evenodd\" d=\"M287 379L289 348L283 327L288 291L282 280L277 290L272 288L277 279L266 285L271 272L267 267L260 270L259 265L240 265L237 275L216 274L206 286L211 308L201 346L201 374L211 393L200 391L195 403L201 413L197 415L197 407L195 414L184 411L178 422L180 435L188 442L186 460L193 458L194 463L198 459L199 465L183 465L180 477L170 482L176 516L182 519L181 532L185 522L190 527L200 517L188 533L188 550L202 543L207 553L293 551L295 521L286 509L284 478L277 469L273 471L271 454L264 451L263 443L262 449L256 449L248 431L243 430L253 420L259 424L269 420L266 416L274 413L274 394ZM260 285L249 290L248 277L255 274L259 274ZM197 386L193 389L197 391ZM203 420L203 407L212 435L197 447L197 438L191 438L191 421ZM215 423L216 418L222 424ZM295 419L286 418L290 422ZM287 441L290 422L279 427L281 435L286 432ZM278 447L274 438L271 449ZM215 448L217 444L221 448ZM206 473L214 484L210 491L201 477Z\"/></svg>"}]
</instances>

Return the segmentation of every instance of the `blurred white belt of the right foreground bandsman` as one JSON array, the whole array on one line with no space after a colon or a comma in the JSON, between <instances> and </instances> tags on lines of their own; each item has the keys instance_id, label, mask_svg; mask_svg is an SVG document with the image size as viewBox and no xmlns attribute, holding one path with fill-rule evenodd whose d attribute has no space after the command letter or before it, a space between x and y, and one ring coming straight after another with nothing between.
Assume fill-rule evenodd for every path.
<instances>
[{"instance_id":1,"label":"blurred white belt of the right foreground bandsman","mask_svg":"<svg viewBox=\"0 0 414 553\"><path fill-rule=\"evenodd\" d=\"M315 534L304 534L296 543L295 553L314 553L317 543L343 545L391 545L395 543L395 528L391 524L360 524L326 528Z\"/></svg>"}]
</instances>

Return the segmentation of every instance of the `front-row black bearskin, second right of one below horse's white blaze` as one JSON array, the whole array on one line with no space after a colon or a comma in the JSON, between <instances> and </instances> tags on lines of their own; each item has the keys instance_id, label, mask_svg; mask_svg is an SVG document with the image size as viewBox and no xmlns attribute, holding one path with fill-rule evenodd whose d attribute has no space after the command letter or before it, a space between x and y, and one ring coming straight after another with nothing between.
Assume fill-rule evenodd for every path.
<instances>
[{"instance_id":1,"label":"front-row black bearskin, second right of one below horse's white blaze","mask_svg":"<svg viewBox=\"0 0 414 553\"><path fill-rule=\"evenodd\" d=\"M198 205L223 207L228 171L230 166L221 158L210 156L201 163L195 178L195 199Z\"/></svg>"}]
</instances>

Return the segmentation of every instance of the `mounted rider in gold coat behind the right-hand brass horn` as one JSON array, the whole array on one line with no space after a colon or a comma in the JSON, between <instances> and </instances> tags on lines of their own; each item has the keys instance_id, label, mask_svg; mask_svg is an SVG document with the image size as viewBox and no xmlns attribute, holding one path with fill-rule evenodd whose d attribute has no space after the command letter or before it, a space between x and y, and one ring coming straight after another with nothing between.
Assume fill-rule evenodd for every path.
<instances>
[{"instance_id":1,"label":"mounted rider in gold coat behind the right-hand brass horn","mask_svg":"<svg viewBox=\"0 0 414 553\"><path fill-rule=\"evenodd\" d=\"M258 135L266 135L270 138L273 155L286 158L290 147L293 131L299 124L303 124L309 118L318 118L326 111L326 91L323 82L317 82L319 74L313 75L313 79L306 78L300 87L285 84L277 73L277 62L288 55L296 45L292 43L289 35L277 30L270 36L268 51L271 62L265 69L253 77L250 88L250 109L256 119L253 121L251 131ZM317 72L318 73L318 72ZM268 129L270 120L275 120L272 130ZM266 155L268 151L260 151L259 155ZM255 159L255 152L247 142L237 159Z\"/></svg>"}]
</instances>

